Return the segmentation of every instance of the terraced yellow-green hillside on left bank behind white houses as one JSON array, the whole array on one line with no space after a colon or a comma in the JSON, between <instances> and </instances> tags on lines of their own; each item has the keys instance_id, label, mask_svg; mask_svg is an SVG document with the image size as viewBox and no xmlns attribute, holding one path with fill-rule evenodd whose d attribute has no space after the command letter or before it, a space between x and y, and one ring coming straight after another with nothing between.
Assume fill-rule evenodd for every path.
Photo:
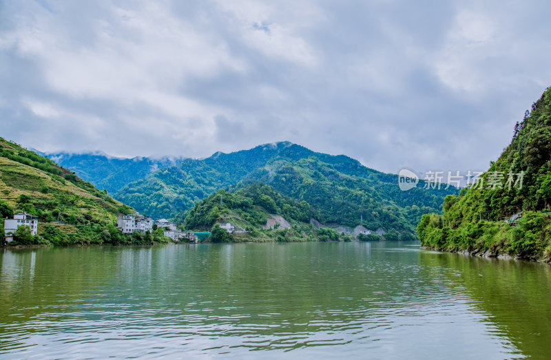
<instances>
[{"instance_id":1,"label":"terraced yellow-green hillside on left bank behind white houses","mask_svg":"<svg viewBox=\"0 0 551 360\"><path fill-rule=\"evenodd\" d=\"M167 241L161 233L123 235L116 214L134 211L52 160L0 138L0 216L25 211L39 218L38 236L19 244L129 244ZM0 224L3 234L3 222Z\"/></svg>"}]
</instances>

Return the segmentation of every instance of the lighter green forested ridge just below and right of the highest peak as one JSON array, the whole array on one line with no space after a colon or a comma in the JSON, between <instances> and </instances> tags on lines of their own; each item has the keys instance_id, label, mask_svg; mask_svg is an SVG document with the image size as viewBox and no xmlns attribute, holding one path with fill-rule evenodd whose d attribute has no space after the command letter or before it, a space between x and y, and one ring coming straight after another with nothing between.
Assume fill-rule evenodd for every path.
<instances>
[{"instance_id":1,"label":"lighter green forested ridge just below and right of the highest peak","mask_svg":"<svg viewBox=\"0 0 551 360\"><path fill-rule=\"evenodd\" d=\"M395 176L362 169L354 162L349 167L335 163L323 162L317 156L291 162L276 158L251 173L245 182L264 182L284 195L305 200L319 211L323 223L353 227L363 218L370 229L411 232L423 213L438 211L444 195L455 191L400 191Z\"/></svg>"}]
</instances>

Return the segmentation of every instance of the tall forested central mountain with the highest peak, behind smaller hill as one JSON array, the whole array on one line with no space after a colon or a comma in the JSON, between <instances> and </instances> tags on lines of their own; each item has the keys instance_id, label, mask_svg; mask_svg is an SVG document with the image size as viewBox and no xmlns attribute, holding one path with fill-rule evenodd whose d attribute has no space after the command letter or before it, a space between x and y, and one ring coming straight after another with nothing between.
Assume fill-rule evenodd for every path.
<instances>
[{"instance_id":1,"label":"tall forested central mountain with the highest peak, behind smaller hill","mask_svg":"<svg viewBox=\"0 0 551 360\"><path fill-rule=\"evenodd\" d=\"M260 145L204 160L184 160L123 187L115 198L154 217L183 221L185 211L218 189L238 191L250 183L269 184L296 201L306 201L320 221L370 229L415 232L423 213L439 211L457 189L400 191L397 176L364 167L347 156L316 153L291 142Z\"/></svg>"}]
</instances>

